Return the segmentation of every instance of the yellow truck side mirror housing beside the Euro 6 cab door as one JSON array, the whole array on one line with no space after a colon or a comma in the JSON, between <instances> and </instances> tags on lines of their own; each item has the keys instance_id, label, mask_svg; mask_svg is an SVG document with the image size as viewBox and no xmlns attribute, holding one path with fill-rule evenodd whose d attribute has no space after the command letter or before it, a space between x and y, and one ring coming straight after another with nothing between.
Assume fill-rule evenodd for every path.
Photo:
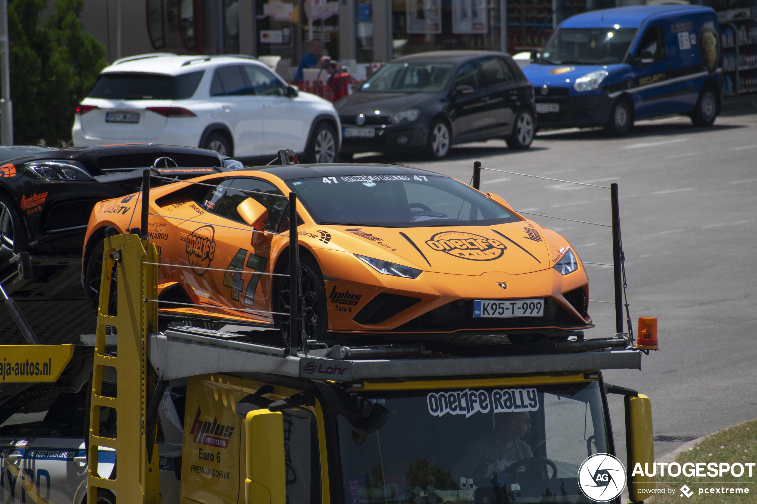
<instances>
[{"instance_id":1,"label":"yellow truck side mirror housing beside the Euro 6 cab door","mask_svg":"<svg viewBox=\"0 0 757 504\"><path fill-rule=\"evenodd\" d=\"M254 410L245 417L245 503L284 504L284 416Z\"/></svg>"}]
</instances>

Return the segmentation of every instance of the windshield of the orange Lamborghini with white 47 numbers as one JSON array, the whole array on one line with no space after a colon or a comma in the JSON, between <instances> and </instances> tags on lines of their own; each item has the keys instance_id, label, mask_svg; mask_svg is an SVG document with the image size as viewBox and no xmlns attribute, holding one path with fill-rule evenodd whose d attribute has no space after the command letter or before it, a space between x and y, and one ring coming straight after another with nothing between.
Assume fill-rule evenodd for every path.
<instances>
[{"instance_id":1,"label":"windshield of the orange Lamborghini with white 47 numbers","mask_svg":"<svg viewBox=\"0 0 757 504\"><path fill-rule=\"evenodd\" d=\"M353 175L287 181L319 224L427 227L519 221L492 199L441 175Z\"/></svg>"}]
</instances>

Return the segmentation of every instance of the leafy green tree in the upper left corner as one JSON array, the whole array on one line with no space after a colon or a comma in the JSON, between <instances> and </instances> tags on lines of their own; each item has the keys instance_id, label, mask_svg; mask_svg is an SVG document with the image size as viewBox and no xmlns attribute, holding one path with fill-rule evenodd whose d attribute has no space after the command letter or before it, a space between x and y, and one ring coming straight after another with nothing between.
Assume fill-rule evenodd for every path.
<instances>
[{"instance_id":1,"label":"leafy green tree in the upper left corner","mask_svg":"<svg viewBox=\"0 0 757 504\"><path fill-rule=\"evenodd\" d=\"M16 144L70 141L73 114L105 66L105 48L84 32L84 0L58 0L44 22L48 0L8 2L11 100Z\"/></svg>"}]
</instances>

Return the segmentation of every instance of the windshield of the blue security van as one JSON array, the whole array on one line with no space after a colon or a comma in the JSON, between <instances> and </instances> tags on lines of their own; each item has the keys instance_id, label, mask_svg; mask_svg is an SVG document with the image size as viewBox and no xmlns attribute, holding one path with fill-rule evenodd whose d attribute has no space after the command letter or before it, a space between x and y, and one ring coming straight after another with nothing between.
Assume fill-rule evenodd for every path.
<instances>
[{"instance_id":1,"label":"windshield of the blue security van","mask_svg":"<svg viewBox=\"0 0 757 504\"><path fill-rule=\"evenodd\" d=\"M544 48L539 63L610 65L620 63L635 28L561 28Z\"/></svg>"}]
</instances>

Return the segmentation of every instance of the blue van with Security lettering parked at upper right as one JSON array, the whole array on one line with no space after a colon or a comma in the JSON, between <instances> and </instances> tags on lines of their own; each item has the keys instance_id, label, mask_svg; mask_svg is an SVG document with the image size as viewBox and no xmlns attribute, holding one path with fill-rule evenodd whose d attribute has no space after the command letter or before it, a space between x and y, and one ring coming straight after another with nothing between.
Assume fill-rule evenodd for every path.
<instances>
[{"instance_id":1,"label":"blue van with Security lettering parked at upper right","mask_svg":"<svg viewBox=\"0 0 757 504\"><path fill-rule=\"evenodd\" d=\"M671 114L709 126L720 112L718 17L697 5L638 5L563 21L536 61L539 128L603 126Z\"/></svg>"}]
</instances>

